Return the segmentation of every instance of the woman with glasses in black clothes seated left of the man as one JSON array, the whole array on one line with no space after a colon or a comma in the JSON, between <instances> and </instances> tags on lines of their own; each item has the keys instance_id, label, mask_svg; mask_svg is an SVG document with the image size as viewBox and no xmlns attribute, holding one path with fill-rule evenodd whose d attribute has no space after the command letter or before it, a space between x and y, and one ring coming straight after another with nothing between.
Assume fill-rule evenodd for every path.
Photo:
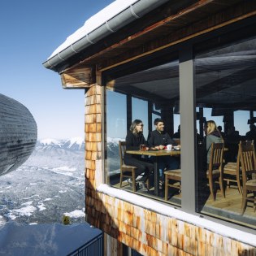
<instances>
[{"instance_id":1,"label":"woman with glasses in black clothes seated left of the man","mask_svg":"<svg viewBox=\"0 0 256 256\"><path fill-rule=\"evenodd\" d=\"M141 145L147 145L145 137L143 136L143 124L140 119L135 119L132 122L125 141L126 150L140 150ZM145 150L149 150L149 147L146 147ZM141 154L127 153L124 153L124 163L126 165L137 167L136 177L143 173L143 176L140 180L141 189L147 190L145 181L149 178L150 173L154 171L153 163L150 163L147 158L141 158Z\"/></svg>"}]
</instances>

